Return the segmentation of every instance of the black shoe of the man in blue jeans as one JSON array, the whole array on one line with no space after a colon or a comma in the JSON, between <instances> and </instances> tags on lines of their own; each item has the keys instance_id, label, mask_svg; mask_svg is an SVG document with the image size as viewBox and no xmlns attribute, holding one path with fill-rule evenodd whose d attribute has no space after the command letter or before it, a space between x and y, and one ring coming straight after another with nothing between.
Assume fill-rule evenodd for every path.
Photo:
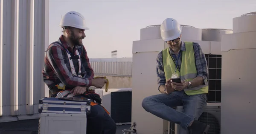
<instances>
[{"instance_id":1,"label":"black shoe of the man in blue jeans","mask_svg":"<svg viewBox=\"0 0 256 134\"><path fill-rule=\"evenodd\" d=\"M198 120L194 120L192 125L188 127L189 134L207 134L209 128L209 125L201 123Z\"/></svg>"}]
</instances>

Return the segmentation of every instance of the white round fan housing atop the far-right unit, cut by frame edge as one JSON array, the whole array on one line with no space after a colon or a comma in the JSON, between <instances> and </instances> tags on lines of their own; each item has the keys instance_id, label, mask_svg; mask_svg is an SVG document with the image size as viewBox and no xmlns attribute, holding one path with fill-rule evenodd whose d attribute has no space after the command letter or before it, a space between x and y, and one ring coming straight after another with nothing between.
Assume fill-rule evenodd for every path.
<instances>
[{"instance_id":1,"label":"white round fan housing atop the far-right unit, cut by frame edge","mask_svg":"<svg viewBox=\"0 0 256 134\"><path fill-rule=\"evenodd\" d=\"M241 15L241 17L233 18L233 32L250 32L256 31L256 12Z\"/></svg>"}]
</instances>

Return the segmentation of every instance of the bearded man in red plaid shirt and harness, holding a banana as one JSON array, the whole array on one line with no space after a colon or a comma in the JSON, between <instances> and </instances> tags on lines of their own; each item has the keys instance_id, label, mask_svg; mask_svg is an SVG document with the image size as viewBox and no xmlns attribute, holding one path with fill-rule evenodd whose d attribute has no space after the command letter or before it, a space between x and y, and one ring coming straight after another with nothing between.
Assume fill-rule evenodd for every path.
<instances>
[{"instance_id":1,"label":"bearded man in red plaid shirt and harness, holding a banana","mask_svg":"<svg viewBox=\"0 0 256 134\"><path fill-rule=\"evenodd\" d=\"M87 95L99 103L91 103L87 115L87 134L115 134L116 123L99 104L99 95L88 91L88 87L102 88L107 82L103 78L94 79L87 52L82 43L85 38L84 17L70 11L61 18L63 34L49 45L44 62L43 78L51 91L51 97L76 97ZM91 93L91 94L90 94Z\"/></svg>"}]
</instances>

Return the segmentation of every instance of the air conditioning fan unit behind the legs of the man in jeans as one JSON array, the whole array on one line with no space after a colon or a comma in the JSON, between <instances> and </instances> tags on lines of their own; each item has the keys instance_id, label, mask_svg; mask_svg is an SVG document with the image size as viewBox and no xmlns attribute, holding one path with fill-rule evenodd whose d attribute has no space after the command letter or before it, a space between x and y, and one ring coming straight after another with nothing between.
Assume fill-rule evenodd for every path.
<instances>
[{"instance_id":1,"label":"air conditioning fan unit behind the legs of the man in jeans","mask_svg":"<svg viewBox=\"0 0 256 134\"><path fill-rule=\"evenodd\" d=\"M177 106L176 110L182 112L183 106ZM207 134L221 134L221 103L207 103L198 121L210 126ZM168 134L179 134L179 130L180 125L169 122Z\"/></svg>"}]
</instances>

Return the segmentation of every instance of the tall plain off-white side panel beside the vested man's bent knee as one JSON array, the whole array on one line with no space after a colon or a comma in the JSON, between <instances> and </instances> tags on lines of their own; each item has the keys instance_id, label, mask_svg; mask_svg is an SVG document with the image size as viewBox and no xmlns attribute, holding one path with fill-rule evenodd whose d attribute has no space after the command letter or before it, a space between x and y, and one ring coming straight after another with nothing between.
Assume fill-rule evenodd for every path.
<instances>
[{"instance_id":1,"label":"tall plain off-white side panel beside the vested man's bent knee","mask_svg":"<svg viewBox=\"0 0 256 134\"><path fill-rule=\"evenodd\" d=\"M168 131L168 121L146 112L141 106L145 97L160 93L155 73L156 58L158 53L167 47L162 39L133 42L131 123L137 123L135 129L138 134L163 134Z\"/></svg>"}]
</instances>

